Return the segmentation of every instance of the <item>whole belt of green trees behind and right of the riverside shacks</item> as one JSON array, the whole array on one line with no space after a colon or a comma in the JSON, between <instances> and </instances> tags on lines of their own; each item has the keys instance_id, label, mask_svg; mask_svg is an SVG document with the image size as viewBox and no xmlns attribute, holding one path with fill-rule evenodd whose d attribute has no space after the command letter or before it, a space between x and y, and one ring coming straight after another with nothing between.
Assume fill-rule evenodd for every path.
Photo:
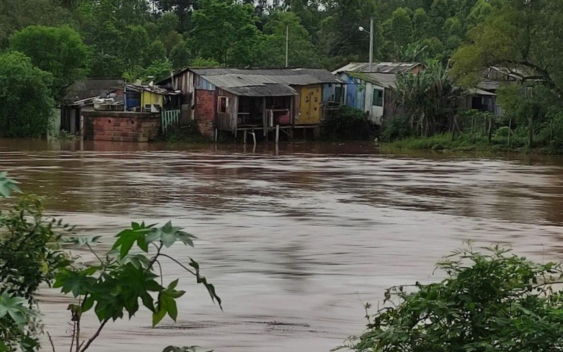
<instances>
[{"instance_id":1,"label":"whole belt of green trees behind and right of the riverside shacks","mask_svg":"<svg viewBox=\"0 0 563 352\"><path fill-rule=\"evenodd\" d=\"M358 27L370 18L375 61L431 63L430 73L402 78L399 115L409 123L385 125L384 139L467 132L452 107L455 87L473 87L500 65L521 75L521 89L500 89L507 119L491 125L487 142L507 127L529 149L563 149L560 1L4 0L0 50L51 73L58 101L86 73L158 81L186 65L281 67L286 31L290 66L367 61L369 35Z\"/></svg>"}]
</instances>

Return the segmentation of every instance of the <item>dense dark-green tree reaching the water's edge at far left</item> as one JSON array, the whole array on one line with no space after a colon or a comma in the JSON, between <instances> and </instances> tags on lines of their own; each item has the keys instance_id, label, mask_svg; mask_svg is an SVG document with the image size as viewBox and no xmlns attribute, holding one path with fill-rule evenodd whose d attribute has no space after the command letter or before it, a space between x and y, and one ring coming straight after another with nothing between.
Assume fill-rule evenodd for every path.
<instances>
[{"instance_id":1,"label":"dense dark-green tree reaching the water's edge at far left","mask_svg":"<svg viewBox=\"0 0 563 352\"><path fill-rule=\"evenodd\" d=\"M18 52L0 54L1 137L39 137L53 111L53 77Z\"/></svg>"}]
</instances>

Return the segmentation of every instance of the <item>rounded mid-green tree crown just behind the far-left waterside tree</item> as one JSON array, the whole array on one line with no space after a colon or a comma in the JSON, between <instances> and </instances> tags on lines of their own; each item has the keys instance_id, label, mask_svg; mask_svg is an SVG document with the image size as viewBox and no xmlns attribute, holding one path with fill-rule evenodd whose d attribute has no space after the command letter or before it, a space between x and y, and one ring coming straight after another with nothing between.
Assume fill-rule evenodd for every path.
<instances>
[{"instance_id":1,"label":"rounded mid-green tree crown just behind the far-left waterside tree","mask_svg":"<svg viewBox=\"0 0 563 352\"><path fill-rule=\"evenodd\" d=\"M88 72L89 51L72 27L30 26L10 37L10 49L29 56L34 65L51 73L51 91L56 101Z\"/></svg>"}]
</instances>

